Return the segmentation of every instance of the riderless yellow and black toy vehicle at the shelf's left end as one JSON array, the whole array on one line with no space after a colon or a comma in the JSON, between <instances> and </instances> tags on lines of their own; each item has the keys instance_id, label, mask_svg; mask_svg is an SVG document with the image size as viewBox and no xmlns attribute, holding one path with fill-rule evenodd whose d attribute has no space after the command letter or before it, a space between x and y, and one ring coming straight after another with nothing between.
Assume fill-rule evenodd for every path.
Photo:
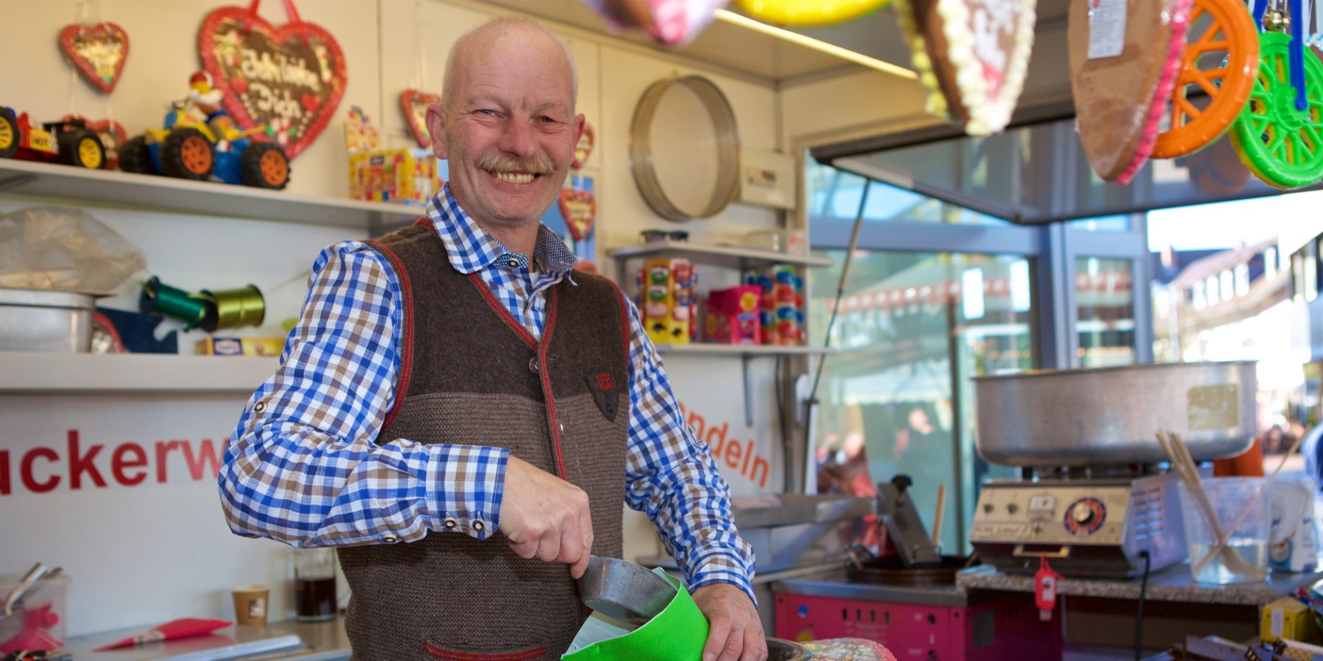
<instances>
[{"instance_id":1,"label":"riderless yellow and black toy vehicle at the shelf's left end","mask_svg":"<svg viewBox=\"0 0 1323 661\"><path fill-rule=\"evenodd\" d=\"M0 106L0 159L11 157L99 169L106 167L106 147L81 119L34 128L26 112L16 115L13 108Z\"/></svg>"}]
</instances>

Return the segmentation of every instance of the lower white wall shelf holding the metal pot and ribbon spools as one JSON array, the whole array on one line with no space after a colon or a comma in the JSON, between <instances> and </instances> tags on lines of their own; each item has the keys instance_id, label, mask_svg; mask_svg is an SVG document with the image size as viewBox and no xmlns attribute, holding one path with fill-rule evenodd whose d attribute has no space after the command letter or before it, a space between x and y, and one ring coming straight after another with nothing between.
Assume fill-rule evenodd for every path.
<instances>
[{"instance_id":1,"label":"lower white wall shelf holding the metal pot and ribbon spools","mask_svg":"<svg viewBox=\"0 0 1323 661\"><path fill-rule=\"evenodd\" d=\"M0 394L251 394L278 366L251 356L0 352Z\"/></svg>"}]
</instances>

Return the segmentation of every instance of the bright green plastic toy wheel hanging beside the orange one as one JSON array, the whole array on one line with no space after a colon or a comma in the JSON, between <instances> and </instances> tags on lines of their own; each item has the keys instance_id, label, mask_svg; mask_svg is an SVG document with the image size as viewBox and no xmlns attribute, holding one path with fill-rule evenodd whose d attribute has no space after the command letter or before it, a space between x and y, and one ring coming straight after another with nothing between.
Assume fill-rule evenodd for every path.
<instances>
[{"instance_id":1,"label":"bright green plastic toy wheel hanging beside the orange one","mask_svg":"<svg viewBox=\"0 0 1323 661\"><path fill-rule=\"evenodd\" d=\"M1259 34L1258 79L1232 124L1232 144L1258 178L1277 188L1323 180L1323 62L1304 52L1307 110L1295 110L1289 34Z\"/></svg>"}]
</instances>

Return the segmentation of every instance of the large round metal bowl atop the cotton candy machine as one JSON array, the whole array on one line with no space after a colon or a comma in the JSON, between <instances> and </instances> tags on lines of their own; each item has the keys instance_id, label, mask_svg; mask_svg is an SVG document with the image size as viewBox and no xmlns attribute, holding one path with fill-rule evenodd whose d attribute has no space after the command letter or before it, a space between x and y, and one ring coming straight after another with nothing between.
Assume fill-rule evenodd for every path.
<instances>
[{"instance_id":1,"label":"large round metal bowl atop the cotton candy machine","mask_svg":"<svg viewBox=\"0 0 1323 661\"><path fill-rule=\"evenodd\" d=\"M1196 460L1254 440L1254 362L1185 362L976 377L976 447L1007 465L1166 461L1159 428Z\"/></svg>"}]
</instances>

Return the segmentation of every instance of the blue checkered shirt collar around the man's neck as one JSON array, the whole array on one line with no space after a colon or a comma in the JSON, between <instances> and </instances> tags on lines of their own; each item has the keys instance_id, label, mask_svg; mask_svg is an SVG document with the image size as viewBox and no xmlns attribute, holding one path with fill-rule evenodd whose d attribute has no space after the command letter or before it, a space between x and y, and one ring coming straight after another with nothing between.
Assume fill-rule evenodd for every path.
<instances>
[{"instance_id":1,"label":"blue checkered shirt collar around the man's neck","mask_svg":"<svg viewBox=\"0 0 1323 661\"><path fill-rule=\"evenodd\" d=\"M446 245L446 254L451 266L462 274L472 274L495 264L507 264L511 256L516 256L524 264L524 255L515 255L496 237L487 234L478 226L450 194L450 185L445 185L427 202L427 217L431 219L442 243ZM537 226L537 245L533 247L533 259L542 272L552 276L561 276L574 268L578 258L569 246L561 241L546 225ZM525 264L527 266L527 264Z\"/></svg>"}]
</instances>

